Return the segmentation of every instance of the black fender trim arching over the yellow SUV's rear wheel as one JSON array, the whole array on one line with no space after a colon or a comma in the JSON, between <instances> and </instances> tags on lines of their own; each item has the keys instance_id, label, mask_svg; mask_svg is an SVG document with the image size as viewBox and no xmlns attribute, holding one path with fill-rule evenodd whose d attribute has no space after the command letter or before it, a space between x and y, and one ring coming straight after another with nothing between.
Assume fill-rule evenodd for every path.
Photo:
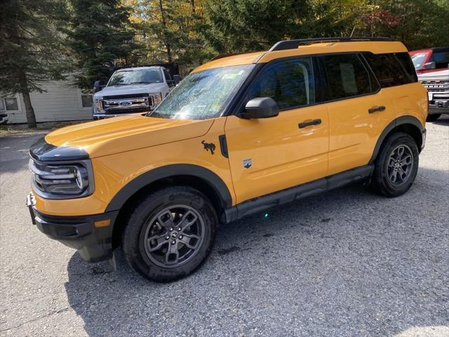
<instances>
[{"instance_id":1,"label":"black fender trim arching over the yellow SUV's rear wheel","mask_svg":"<svg viewBox=\"0 0 449 337\"><path fill-rule=\"evenodd\" d=\"M424 126L421 124L420 120L413 116L401 116L394 121L391 121L380 134L379 139L374 147L373 156L371 157L369 164L373 164L377 158L377 154L380 152L380 147L382 143L391 135L391 133L401 131L408 133L416 142L418 151L421 152L423 144L423 133Z\"/></svg>"}]
</instances>

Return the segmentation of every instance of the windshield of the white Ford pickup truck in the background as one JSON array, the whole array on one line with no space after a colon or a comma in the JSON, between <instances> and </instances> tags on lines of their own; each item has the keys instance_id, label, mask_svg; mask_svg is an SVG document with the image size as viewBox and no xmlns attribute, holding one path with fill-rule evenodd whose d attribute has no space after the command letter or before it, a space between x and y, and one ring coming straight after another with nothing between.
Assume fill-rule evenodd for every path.
<instances>
[{"instance_id":1,"label":"windshield of the white Ford pickup truck in the background","mask_svg":"<svg viewBox=\"0 0 449 337\"><path fill-rule=\"evenodd\" d=\"M159 69L130 69L119 70L112 74L107 86L126 86L129 84L162 83L162 74Z\"/></svg>"}]
</instances>

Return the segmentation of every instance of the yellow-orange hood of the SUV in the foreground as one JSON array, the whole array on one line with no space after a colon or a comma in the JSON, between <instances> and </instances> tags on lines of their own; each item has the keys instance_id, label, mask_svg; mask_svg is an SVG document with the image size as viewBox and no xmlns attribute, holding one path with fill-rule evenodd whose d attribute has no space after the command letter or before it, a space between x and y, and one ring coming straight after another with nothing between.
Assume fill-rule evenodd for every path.
<instances>
[{"instance_id":1,"label":"yellow-orange hood of the SUV in the foreground","mask_svg":"<svg viewBox=\"0 0 449 337\"><path fill-rule=\"evenodd\" d=\"M45 140L55 146L79 147L95 158L201 137L212 124L213 119L194 121L131 114L60 128L48 133Z\"/></svg>"}]
</instances>

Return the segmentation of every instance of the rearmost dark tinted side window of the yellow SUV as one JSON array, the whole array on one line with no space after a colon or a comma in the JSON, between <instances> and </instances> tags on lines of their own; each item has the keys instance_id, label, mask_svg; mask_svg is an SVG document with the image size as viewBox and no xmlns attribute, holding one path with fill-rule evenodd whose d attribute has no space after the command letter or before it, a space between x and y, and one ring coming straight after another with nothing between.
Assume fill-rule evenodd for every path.
<instances>
[{"instance_id":1,"label":"rearmost dark tinted side window of the yellow SUV","mask_svg":"<svg viewBox=\"0 0 449 337\"><path fill-rule=\"evenodd\" d=\"M417 81L415 67L408 53L364 54L382 88Z\"/></svg>"}]
</instances>

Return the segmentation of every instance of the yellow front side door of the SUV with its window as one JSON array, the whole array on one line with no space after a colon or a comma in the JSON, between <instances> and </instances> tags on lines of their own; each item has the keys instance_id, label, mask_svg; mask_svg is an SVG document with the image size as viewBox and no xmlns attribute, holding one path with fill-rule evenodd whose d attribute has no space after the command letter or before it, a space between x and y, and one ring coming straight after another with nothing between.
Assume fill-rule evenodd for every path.
<instances>
[{"instance_id":1,"label":"yellow front side door of the SUV with its window","mask_svg":"<svg viewBox=\"0 0 449 337\"><path fill-rule=\"evenodd\" d=\"M311 58L266 65L247 100L257 97L276 100L279 116L230 116L225 124L237 203L323 178L328 169L328 112L314 105Z\"/></svg>"}]
</instances>

